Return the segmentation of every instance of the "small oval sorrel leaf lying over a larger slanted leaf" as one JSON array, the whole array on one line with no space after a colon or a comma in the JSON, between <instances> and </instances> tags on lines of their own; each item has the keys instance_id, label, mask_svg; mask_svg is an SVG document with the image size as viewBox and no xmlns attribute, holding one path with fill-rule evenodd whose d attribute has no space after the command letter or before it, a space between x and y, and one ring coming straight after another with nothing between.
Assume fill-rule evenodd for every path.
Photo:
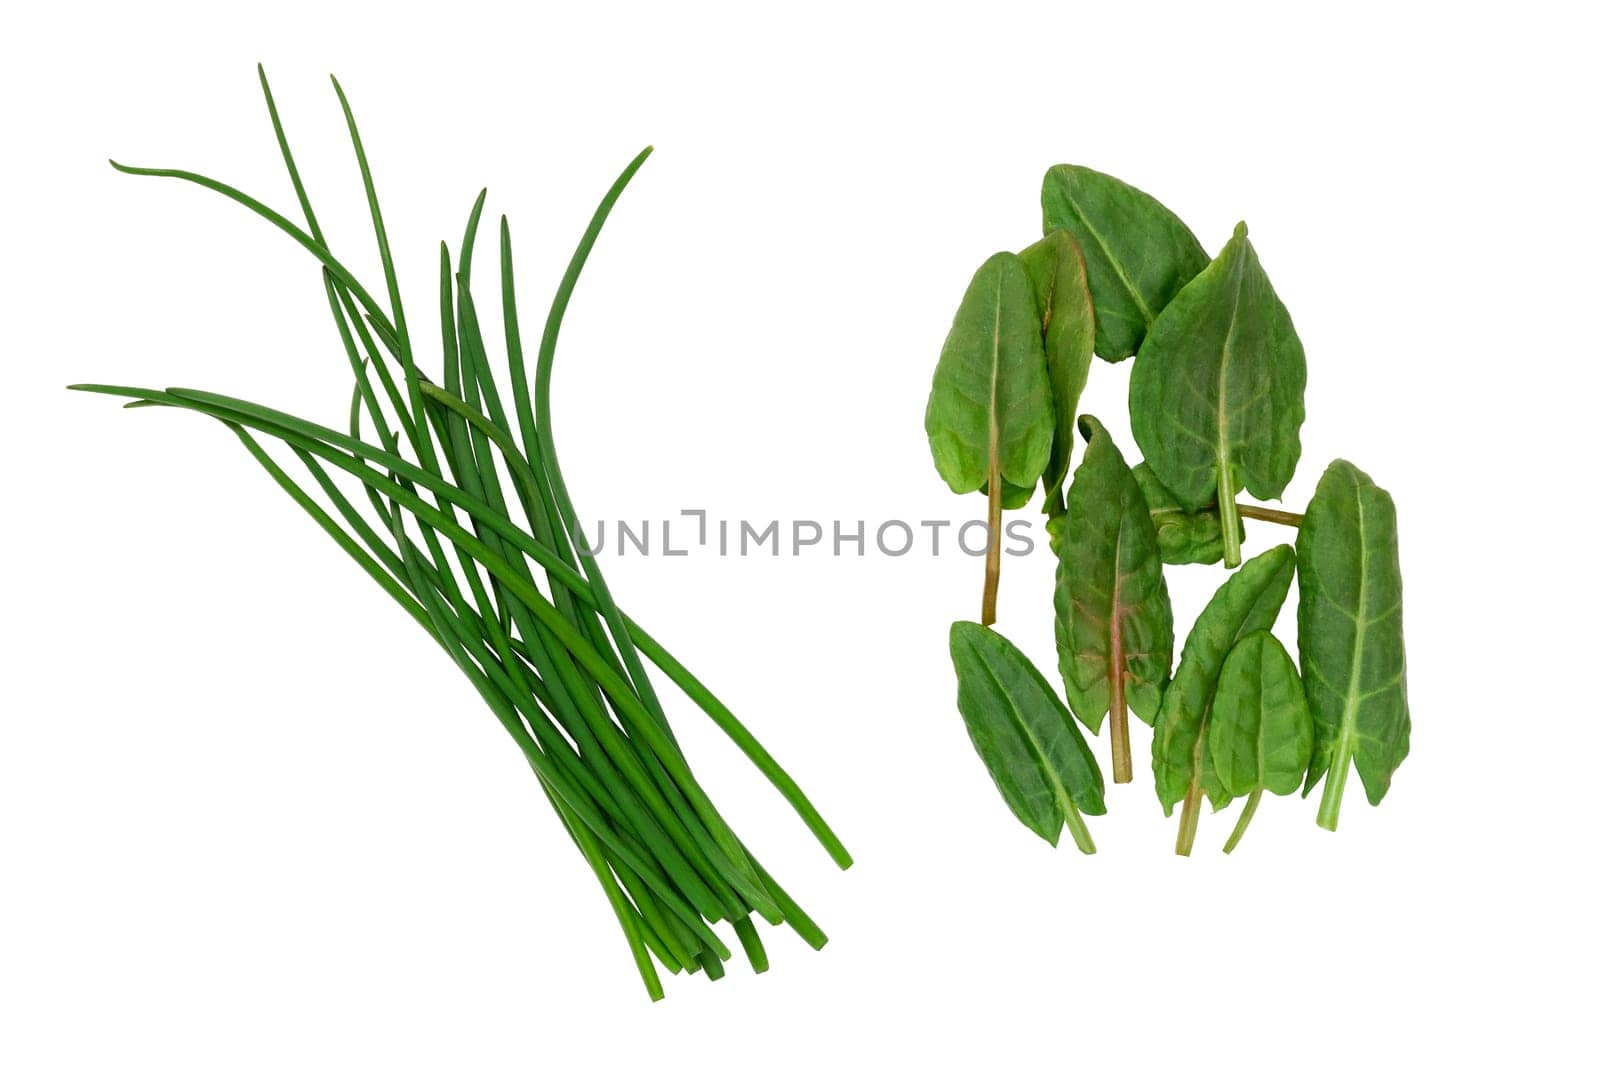
<instances>
[{"instance_id":1,"label":"small oval sorrel leaf lying over a larger slanted leaf","mask_svg":"<svg viewBox=\"0 0 1600 1067\"><path fill-rule=\"evenodd\" d=\"M1267 630L1238 638L1216 680L1206 742L1222 789L1248 797L1222 851L1238 845L1264 790L1288 797L1301 787L1310 734L1306 689L1288 651Z\"/></svg>"}]
</instances>

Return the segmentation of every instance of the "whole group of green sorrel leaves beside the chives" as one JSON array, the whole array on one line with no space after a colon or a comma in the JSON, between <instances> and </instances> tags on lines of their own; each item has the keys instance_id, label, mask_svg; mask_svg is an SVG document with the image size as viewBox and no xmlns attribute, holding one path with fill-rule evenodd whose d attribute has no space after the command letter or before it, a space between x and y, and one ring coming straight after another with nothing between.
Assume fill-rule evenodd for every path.
<instances>
[{"instance_id":1,"label":"whole group of green sorrel leaves beside the chives","mask_svg":"<svg viewBox=\"0 0 1600 1067\"><path fill-rule=\"evenodd\" d=\"M1333 830L1350 766L1376 805L1410 745L1394 501L1344 459L1304 515L1238 499L1283 494L1306 418L1306 355L1243 222L1213 259L1155 198L1085 166L1053 166L1042 200L1045 237L973 277L928 398L939 475L987 496L982 625L950 627L973 744L1051 845L1066 825L1094 851L1082 816L1106 811L1106 792L1077 723L1110 721L1112 779L1128 782L1130 710L1154 728L1162 808L1181 806L1179 854L1202 798L1245 800L1232 851L1264 792L1309 795L1325 776L1317 824ZM1134 360L1131 466L1078 413L1094 355ZM1058 557L1066 704L992 629L1000 517L1035 491ZM1243 518L1299 534L1245 561ZM1173 670L1165 568L1216 561L1237 569ZM1270 632L1296 577L1298 669Z\"/></svg>"}]
</instances>

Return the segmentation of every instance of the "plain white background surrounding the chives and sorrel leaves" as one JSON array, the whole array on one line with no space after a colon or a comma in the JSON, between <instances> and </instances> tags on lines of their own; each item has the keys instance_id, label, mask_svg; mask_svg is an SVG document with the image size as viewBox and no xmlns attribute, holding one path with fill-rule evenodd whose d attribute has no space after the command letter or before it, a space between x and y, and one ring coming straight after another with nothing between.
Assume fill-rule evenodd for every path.
<instances>
[{"instance_id":1,"label":"plain white background surrounding the chives and sorrel leaves","mask_svg":"<svg viewBox=\"0 0 1600 1067\"><path fill-rule=\"evenodd\" d=\"M0 43L0 1061L1592 1054L1579 5L40 6ZM1400 509L1416 726L1389 798L1352 782L1336 835L1315 800L1267 798L1230 857L1232 813L1208 813L1179 861L1141 760L1093 822L1099 856L1051 851L954 709L946 629L976 613L981 561L611 560L858 856L830 869L675 704L702 781L834 942L774 931L771 973L650 1005L528 766L427 637L226 432L61 389L342 419L310 259L104 163L190 166L293 214L258 59L334 248L381 288L326 72L350 91L419 336L437 240L482 184L536 318L605 186L658 146L557 370L589 518L978 517L922 410L971 270L1037 237L1045 168L1118 174L1211 251L1248 219L1310 368L1286 506L1347 456ZM1083 408L1131 448L1125 386L1096 363ZM1246 553L1278 533L1251 526ZM1181 630L1218 579L1171 573ZM1050 581L1045 552L1008 560L1000 605L1046 673Z\"/></svg>"}]
</instances>

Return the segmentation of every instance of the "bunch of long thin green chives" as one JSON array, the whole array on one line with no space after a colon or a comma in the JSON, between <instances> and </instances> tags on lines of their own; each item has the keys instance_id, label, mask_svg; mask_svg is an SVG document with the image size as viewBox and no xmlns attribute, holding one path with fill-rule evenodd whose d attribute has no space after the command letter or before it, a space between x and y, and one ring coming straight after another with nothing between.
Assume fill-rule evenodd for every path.
<instances>
[{"instance_id":1,"label":"bunch of long thin green chives","mask_svg":"<svg viewBox=\"0 0 1600 1067\"><path fill-rule=\"evenodd\" d=\"M598 563L581 550L581 526L555 454L550 370L562 317L600 227L650 149L613 182L573 253L544 322L531 390L510 230L501 218L507 406L470 285L483 194L454 262L448 245L440 245L443 366L435 381L416 365L371 170L342 88L334 80L378 238L387 307L323 240L266 72L259 74L304 227L202 174L112 166L219 192L322 262L323 293L355 379L347 432L192 389L72 389L125 397L128 406L186 408L227 426L272 480L438 641L533 766L600 880L653 1000L662 989L651 957L672 973L722 977L731 952L714 926L723 920L757 973L766 969L766 952L754 915L789 923L821 949L826 934L755 861L694 779L645 659L733 739L840 867L850 865L850 853L733 712L616 606ZM267 453L261 437L288 446L320 499ZM360 483L366 512L336 474Z\"/></svg>"}]
</instances>

